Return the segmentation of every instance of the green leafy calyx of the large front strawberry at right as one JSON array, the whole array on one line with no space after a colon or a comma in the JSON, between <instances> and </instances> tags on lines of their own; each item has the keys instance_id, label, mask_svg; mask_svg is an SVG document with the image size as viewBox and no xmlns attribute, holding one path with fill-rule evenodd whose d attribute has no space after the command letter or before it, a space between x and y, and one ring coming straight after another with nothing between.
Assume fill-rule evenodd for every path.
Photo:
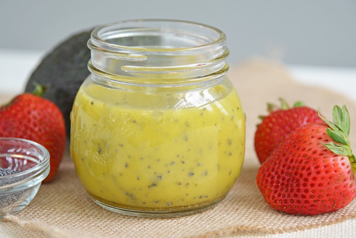
<instances>
[{"instance_id":1,"label":"green leafy calyx of the large front strawberry at right","mask_svg":"<svg viewBox=\"0 0 356 238\"><path fill-rule=\"evenodd\" d=\"M335 105L333 108L333 122L328 119L322 117L319 113L319 117L323 119L323 121L328 124L329 128L326 129L326 133L333 139L333 141L329 143L322 143L326 148L331 150L337 155L346 155L349 157L350 162L354 170L356 170L356 158L355 155L352 154L349 134L350 134L350 114L347 110L346 106L343 105L342 108Z\"/></svg>"}]
</instances>

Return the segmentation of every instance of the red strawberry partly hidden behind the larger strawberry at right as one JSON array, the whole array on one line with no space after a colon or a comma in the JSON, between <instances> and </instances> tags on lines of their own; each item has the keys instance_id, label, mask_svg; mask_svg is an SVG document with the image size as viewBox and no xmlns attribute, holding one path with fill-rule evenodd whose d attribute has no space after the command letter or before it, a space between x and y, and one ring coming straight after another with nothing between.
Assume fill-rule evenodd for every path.
<instances>
[{"instance_id":1,"label":"red strawberry partly hidden behind the larger strawberry at right","mask_svg":"<svg viewBox=\"0 0 356 238\"><path fill-rule=\"evenodd\" d=\"M318 112L297 102L293 108L289 108L287 103L280 99L282 107L276 109L275 106L267 104L270 113L262 119L257 126L255 133L255 151L261 164L266 161L272 151L299 126L311 122L323 121L318 116Z\"/></svg>"}]
</instances>

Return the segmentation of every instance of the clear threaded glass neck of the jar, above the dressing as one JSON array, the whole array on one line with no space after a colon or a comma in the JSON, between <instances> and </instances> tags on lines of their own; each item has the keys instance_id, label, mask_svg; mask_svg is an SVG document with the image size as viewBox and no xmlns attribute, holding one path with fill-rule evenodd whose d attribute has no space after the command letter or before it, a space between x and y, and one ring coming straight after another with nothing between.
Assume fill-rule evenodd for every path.
<instances>
[{"instance_id":1,"label":"clear threaded glass neck of the jar, above the dressing","mask_svg":"<svg viewBox=\"0 0 356 238\"><path fill-rule=\"evenodd\" d=\"M220 78L229 68L225 34L194 22L116 22L94 29L88 47L90 72L112 82L197 84Z\"/></svg>"}]
</instances>

